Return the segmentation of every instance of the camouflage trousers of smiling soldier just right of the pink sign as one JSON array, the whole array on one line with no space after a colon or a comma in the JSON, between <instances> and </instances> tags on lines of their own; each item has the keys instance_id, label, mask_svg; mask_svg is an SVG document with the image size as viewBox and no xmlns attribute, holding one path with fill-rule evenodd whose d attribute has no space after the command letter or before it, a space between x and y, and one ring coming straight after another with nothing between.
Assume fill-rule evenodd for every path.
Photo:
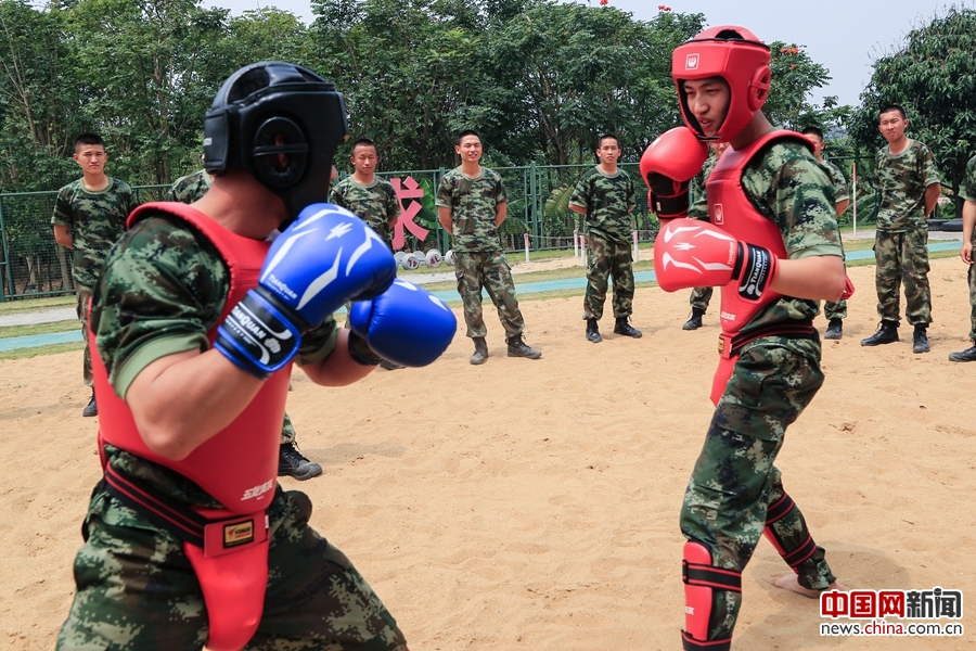
<instances>
[{"instance_id":1,"label":"camouflage trousers of smiling soldier just right of the pink sign","mask_svg":"<svg viewBox=\"0 0 976 651\"><path fill-rule=\"evenodd\" d=\"M464 322L467 336L484 337L488 334L481 316L481 290L498 309L498 318L505 329L505 337L513 339L525 331L525 319L515 297L512 270L502 251L454 252L454 277L458 293L464 305Z\"/></svg>"}]
</instances>

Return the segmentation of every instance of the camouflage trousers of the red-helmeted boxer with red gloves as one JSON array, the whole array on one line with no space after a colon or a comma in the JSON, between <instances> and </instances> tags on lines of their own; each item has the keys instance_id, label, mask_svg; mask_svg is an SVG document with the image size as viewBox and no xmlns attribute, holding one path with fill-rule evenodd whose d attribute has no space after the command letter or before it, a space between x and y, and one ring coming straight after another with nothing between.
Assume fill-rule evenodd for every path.
<instances>
[{"instance_id":1,"label":"camouflage trousers of the red-helmeted boxer with red gloves","mask_svg":"<svg viewBox=\"0 0 976 651\"><path fill-rule=\"evenodd\" d=\"M773 465L793 423L823 384L820 344L779 337L746 346L719 399L681 508L681 533L711 552L716 566L742 572L766 528L767 508L783 496ZM799 508L770 525L783 548L809 538ZM817 548L798 567L800 585L826 588L835 580ZM712 591L710 640L731 637L742 593Z\"/></svg>"}]
</instances>

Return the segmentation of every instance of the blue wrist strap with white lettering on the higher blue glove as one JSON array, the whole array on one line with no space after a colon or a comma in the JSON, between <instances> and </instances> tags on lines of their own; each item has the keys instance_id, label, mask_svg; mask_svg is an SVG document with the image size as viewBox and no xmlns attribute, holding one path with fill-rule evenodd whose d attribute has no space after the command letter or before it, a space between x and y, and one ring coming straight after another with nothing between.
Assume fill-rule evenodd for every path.
<instances>
[{"instance_id":1,"label":"blue wrist strap with white lettering on the higher blue glove","mask_svg":"<svg viewBox=\"0 0 976 651\"><path fill-rule=\"evenodd\" d=\"M249 290L217 329L215 347L264 380L298 352L301 331L296 320L259 291Z\"/></svg>"}]
</instances>

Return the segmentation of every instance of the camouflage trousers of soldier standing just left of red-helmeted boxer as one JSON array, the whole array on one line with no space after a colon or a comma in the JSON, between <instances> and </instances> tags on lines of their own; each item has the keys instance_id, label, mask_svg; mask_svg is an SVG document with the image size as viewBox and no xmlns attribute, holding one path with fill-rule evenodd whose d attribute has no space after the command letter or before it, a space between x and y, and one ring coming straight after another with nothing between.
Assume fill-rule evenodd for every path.
<instances>
[{"instance_id":1,"label":"camouflage trousers of soldier standing just left of red-helmeted boxer","mask_svg":"<svg viewBox=\"0 0 976 651\"><path fill-rule=\"evenodd\" d=\"M633 257L630 244L621 244L590 232L587 235L587 247L583 320L600 320L603 317L609 279L614 281L614 317L629 317L633 312Z\"/></svg>"}]
</instances>

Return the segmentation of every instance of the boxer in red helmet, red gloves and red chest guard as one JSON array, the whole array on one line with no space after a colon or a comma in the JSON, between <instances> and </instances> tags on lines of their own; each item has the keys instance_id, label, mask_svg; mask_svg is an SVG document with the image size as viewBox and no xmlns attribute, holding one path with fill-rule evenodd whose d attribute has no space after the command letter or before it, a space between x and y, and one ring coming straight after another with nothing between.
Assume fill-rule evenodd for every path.
<instances>
[{"instance_id":1,"label":"boxer in red helmet, red gloves and red chest guard","mask_svg":"<svg viewBox=\"0 0 976 651\"><path fill-rule=\"evenodd\" d=\"M835 585L824 551L773 465L786 427L823 383L812 319L846 282L834 191L809 141L775 131L759 111L769 48L741 27L712 27L675 50L671 74L688 128L663 135L641 173L679 217L705 142L729 142L706 200L657 237L662 289L722 288L715 416L681 510L685 649L728 650L742 571L761 534L794 570L776 582L810 597ZM669 205L670 204L670 205ZM708 224L710 221L711 224Z\"/></svg>"}]
</instances>

